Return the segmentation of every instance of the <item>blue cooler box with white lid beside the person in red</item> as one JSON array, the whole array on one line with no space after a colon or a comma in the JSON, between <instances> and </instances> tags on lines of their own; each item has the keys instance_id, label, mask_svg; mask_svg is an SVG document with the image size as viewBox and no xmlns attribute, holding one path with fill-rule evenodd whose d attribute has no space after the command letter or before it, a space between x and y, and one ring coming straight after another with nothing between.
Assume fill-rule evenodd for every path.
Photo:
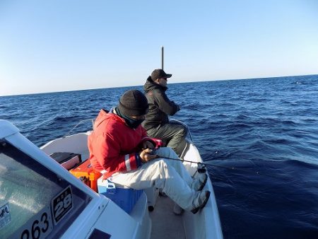
<instances>
[{"instance_id":1,"label":"blue cooler box with white lid beside the person in red","mask_svg":"<svg viewBox=\"0 0 318 239\"><path fill-rule=\"evenodd\" d=\"M103 194L117 204L120 208L129 214L143 190L133 190L129 187L116 187L113 182L103 180L102 177L98 179L98 193Z\"/></svg>"}]
</instances>

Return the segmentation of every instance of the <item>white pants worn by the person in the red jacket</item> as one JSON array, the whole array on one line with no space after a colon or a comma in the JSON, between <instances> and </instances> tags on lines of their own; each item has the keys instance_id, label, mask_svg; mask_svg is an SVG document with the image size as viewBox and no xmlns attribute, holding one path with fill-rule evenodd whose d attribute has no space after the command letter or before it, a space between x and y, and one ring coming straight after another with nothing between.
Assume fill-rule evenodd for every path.
<instances>
[{"instance_id":1,"label":"white pants worn by the person in the red jacket","mask_svg":"<svg viewBox=\"0 0 318 239\"><path fill-rule=\"evenodd\" d=\"M192 177L181 161L167 159L178 158L172 148L159 148L155 153L161 158L144 163L136 170L116 173L109 179L115 184L131 187L135 190L157 187L182 209L192 210L192 201L195 195L194 190L189 187L192 183Z\"/></svg>"}]
</instances>

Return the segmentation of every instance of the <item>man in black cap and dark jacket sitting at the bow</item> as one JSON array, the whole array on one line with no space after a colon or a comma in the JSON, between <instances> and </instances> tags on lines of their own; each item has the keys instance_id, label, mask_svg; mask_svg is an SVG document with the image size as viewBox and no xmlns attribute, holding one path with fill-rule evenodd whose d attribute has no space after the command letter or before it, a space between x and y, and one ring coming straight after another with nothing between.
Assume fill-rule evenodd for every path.
<instances>
[{"instance_id":1,"label":"man in black cap and dark jacket sitting at the bow","mask_svg":"<svg viewBox=\"0 0 318 239\"><path fill-rule=\"evenodd\" d=\"M168 115L175 115L180 110L179 105L167 98L167 78L172 74L166 74L163 69L155 69L148 76L143 86L148 100L149 110L143 127L148 136L162 139L165 146L171 147L179 157L182 157L187 148L188 129L178 122L169 122Z\"/></svg>"}]
</instances>

